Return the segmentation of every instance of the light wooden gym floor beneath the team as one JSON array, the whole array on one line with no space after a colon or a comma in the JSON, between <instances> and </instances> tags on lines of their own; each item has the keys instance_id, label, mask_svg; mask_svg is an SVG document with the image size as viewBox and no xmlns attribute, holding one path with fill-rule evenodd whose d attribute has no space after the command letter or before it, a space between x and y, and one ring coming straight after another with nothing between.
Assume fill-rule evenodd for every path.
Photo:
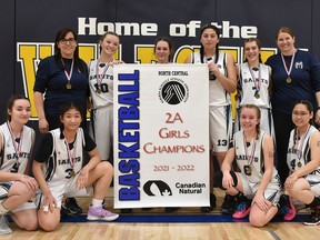
<instances>
[{"instance_id":1,"label":"light wooden gym floor beneath the team","mask_svg":"<svg viewBox=\"0 0 320 240\"><path fill-rule=\"evenodd\" d=\"M110 190L110 194L112 194ZM223 192L217 190L218 207L209 214L217 214L223 199ZM88 210L90 198L78 199L83 210ZM112 197L107 198L108 206L112 206ZM304 210L306 211L306 210ZM120 212L114 210L114 212ZM304 212L306 213L306 212ZM166 214L163 208L154 208L151 211L134 209L131 214ZM167 213L168 214L168 213ZM173 214L201 214L199 208L181 208ZM89 240L89 239L119 239L119 240L209 240L209 239L320 239L320 226L307 227L301 222L271 222L264 228L252 228L248 222L228 223L91 223L68 222L60 223L53 232L37 230L22 231L14 223L9 223L13 232L0 236L2 240Z\"/></svg>"}]
</instances>

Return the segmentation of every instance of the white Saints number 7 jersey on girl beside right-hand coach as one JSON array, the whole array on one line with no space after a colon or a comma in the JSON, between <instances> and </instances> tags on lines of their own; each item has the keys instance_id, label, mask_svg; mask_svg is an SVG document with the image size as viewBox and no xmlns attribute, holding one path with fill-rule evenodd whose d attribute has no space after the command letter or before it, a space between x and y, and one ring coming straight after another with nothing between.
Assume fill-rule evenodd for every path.
<instances>
[{"instance_id":1,"label":"white Saints number 7 jersey on girl beside right-hand coach","mask_svg":"<svg viewBox=\"0 0 320 240\"><path fill-rule=\"evenodd\" d=\"M253 76L252 76L253 74ZM260 79L260 83L256 80ZM249 69L249 64L239 64L239 82L238 82L238 94L237 107L244 104L256 104L259 108L271 108L269 97L269 84L270 84L270 67L260 63L259 70L257 71ZM258 98L254 97L256 89L260 89Z\"/></svg>"}]
</instances>

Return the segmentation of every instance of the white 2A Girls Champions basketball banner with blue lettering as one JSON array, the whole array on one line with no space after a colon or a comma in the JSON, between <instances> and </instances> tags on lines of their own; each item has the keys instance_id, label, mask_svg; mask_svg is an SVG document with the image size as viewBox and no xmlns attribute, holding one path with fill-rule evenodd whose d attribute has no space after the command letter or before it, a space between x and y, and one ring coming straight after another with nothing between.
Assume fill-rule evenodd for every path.
<instances>
[{"instance_id":1,"label":"white 2A Girls Champions basketball banner with blue lettering","mask_svg":"<svg viewBox=\"0 0 320 240\"><path fill-rule=\"evenodd\" d=\"M209 206L206 64L114 66L114 208Z\"/></svg>"}]
</instances>

